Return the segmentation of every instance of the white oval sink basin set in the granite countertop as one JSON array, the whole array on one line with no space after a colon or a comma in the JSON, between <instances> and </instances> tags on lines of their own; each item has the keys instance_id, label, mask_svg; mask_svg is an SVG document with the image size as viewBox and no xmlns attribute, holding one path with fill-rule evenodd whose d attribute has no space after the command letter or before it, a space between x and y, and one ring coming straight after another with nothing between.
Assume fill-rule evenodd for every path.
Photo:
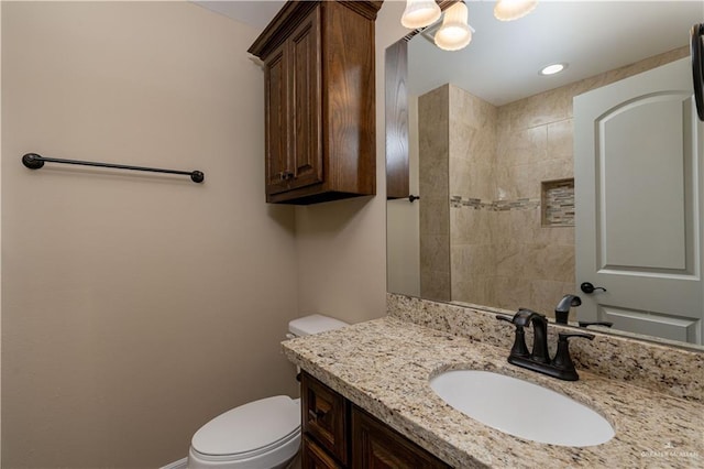
<instances>
[{"instance_id":1,"label":"white oval sink basin set in the granite countertop","mask_svg":"<svg viewBox=\"0 0 704 469\"><path fill-rule=\"evenodd\" d=\"M560 446L593 446L612 439L610 424L560 393L490 371L446 371L430 388L448 404L509 435Z\"/></svg>"}]
</instances>

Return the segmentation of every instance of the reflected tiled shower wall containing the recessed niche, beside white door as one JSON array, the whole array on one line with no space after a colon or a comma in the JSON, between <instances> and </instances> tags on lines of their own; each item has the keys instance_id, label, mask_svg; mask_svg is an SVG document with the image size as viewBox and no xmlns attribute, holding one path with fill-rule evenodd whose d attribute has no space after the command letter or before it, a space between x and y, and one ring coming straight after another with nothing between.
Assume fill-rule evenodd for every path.
<instances>
[{"instance_id":1,"label":"reflected tiled shower wall containing the recessed niche, beside white door","mask_svg":"<svg viewBox=\"0 0 704 469\"><path fill-rule=\"evenodd\" d=\"M495 212L494 306L552 314L562 295L576 293L574 227L543 227L540 212L541 183L573 177L574 95L565 91L498 108L497 196L516 206Z\"/></svg>"}]
</instances>

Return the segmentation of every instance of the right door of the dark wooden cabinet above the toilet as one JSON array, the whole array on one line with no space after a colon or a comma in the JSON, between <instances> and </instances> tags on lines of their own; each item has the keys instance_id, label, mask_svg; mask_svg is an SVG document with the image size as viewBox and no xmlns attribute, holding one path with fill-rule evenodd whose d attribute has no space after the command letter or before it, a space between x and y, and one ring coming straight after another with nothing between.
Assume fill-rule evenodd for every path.
<instances>
[{"instance_id":1,"label":"right door of the dark wooden cabinet above the toilet","mask_svg":"<svg viewBox=\"0 0 704 469\"><path fill-rule=\"evenodd\" d=\"M296 28L288 42L293 123L289 170L294 173L290 188L298 188L323 179L319 6Z\"/></svg>"}]
</instances>

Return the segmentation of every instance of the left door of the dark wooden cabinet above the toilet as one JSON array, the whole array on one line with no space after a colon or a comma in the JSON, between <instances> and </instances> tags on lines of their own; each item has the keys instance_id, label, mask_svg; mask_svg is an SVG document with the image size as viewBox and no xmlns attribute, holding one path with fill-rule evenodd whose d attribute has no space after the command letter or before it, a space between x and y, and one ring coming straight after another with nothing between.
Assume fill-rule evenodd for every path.
<instances>
[{"instance_id":1,"label":"left door of the dark wooden cabinet above the toilet","mask_svg":"<svg viewBox=\"0 0 704 469\"><path fill-rule=\"evenodd\" d=\"M286 43L266 59L266 194L288 189L288 66Z\"/></svg>"}]
</instances>

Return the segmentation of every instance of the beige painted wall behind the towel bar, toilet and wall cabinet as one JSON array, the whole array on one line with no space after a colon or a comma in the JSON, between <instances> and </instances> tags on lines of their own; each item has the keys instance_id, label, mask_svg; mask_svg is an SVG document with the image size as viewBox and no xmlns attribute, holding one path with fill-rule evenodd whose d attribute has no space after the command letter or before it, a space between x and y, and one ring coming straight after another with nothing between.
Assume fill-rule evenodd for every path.
<instances>
[{"instance_id":1,"label":"beige painted wall behind the towel bar, toilet and wall cabinet","mask_svg":"<svg viewBox=\"0 0 704 469\"><path fill-rule=\"evenodd\" d=\"M2 2L2 467L157 467L212 416L295 394L278 342L318 236L321 259L354 249L322 272L364 277L328 285L348 317L378 314L355 294L383 296L383 209L304 211L297 253L294 209L264 203L257 33L183 2ZM30 151L206 182L32 172Z\"/></svg>"}]
</instances>

